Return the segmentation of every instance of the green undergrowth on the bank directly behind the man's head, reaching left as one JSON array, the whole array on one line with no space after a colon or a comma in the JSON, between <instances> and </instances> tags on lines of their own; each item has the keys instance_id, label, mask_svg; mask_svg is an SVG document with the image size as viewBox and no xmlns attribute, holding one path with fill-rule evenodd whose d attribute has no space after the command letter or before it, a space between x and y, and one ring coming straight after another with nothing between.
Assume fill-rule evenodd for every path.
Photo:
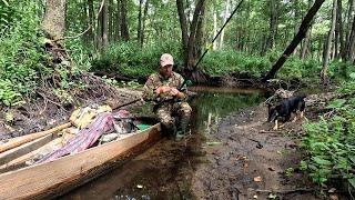
<instances>
[{"instance_id":1,"label":"green undergrowth on the bank directly behind the man's head, reaching left","mask_svg":"<svg viewBox=\"0 0 355 200\"><path fill-rule=\"evenodd\" d=\"M173 54L175 62L181 59L178 43L161 43L143 49L133 42L115 43L93 60L92 70L116 71L129 77L146 77L156 71L159 59L164 52Z\"/></svg>"}]
</instances>

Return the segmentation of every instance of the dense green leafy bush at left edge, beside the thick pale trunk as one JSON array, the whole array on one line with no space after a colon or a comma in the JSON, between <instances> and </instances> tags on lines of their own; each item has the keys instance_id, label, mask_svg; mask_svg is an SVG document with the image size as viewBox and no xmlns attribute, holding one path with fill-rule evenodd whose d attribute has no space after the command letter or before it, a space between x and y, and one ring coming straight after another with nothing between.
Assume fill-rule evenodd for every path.
<instances>
[{"instance_id":1,"label":"dense green leafy bush at left edge, beside the thick pale trunk","mask_svg":"<svg viewBox=\"0 0 355 200\"><path fill-rule=\"evenodd\" d=\"M0 36L0 103L14 106L22 93L37 86L40 74L49 74L51 70L43 66L48 58L39 39L40 18L33 14L38 9L37 2L8 2L12 12L6 24L0 24L7 26Z\"/></svg>"}]
</instances>

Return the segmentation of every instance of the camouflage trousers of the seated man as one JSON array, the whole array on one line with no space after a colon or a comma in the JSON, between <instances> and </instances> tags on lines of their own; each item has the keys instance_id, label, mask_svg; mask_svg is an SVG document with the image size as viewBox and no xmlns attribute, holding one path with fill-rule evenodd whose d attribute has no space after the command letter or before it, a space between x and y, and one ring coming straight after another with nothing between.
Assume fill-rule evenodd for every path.
<instances>
[{"instance_id":1,"label":"camouflage trousers of the seated man","mask_svg":"<svg viewBox=\"0 0 355 200\"><path fill-rule=\"evenodd\" d=\"M178 129L185 129L191 117L191 107L187 102L175 102L160 106L155 113L163 127L172 129L176 126ZM179 124L175 124L178 117Z\"/></svg>"}]
</instances>

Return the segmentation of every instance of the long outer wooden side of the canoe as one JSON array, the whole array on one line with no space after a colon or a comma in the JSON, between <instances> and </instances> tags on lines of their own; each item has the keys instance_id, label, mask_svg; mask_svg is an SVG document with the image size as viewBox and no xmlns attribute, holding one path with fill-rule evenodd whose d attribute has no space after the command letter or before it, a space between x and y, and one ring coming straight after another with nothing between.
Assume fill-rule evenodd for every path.
<instances>
[{"instance_id":1,"label":"long outer wooden side of the canoe","mask_svg":"<svg viewBox=\"0 0 355 200\"><path fill-rule=\"evenodd\" d=\"M161 138L161 126L119 138L109 143L0 174L0 199L57 197L97 178L132 153Z\"/></svg>"}]
</instances>

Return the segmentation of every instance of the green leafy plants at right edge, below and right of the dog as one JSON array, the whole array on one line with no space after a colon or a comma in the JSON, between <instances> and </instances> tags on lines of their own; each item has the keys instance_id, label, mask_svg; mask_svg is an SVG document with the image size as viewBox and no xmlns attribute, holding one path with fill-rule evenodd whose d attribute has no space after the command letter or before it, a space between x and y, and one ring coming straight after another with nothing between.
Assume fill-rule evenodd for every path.
<instances>
[{"instance_id":1,"label":"green leafy plants at right edge, below and right of the dog","mask_svg":"<svg viewBox=\"0 0 355 200\"><path fill-rule=\"evenodd\" d=\"M329 179L347 180L355 186L355 174L352 172L355 168L354 102L355 98L336 99L327 106L336 113L334 117L321 118L320 122L305 126L307 136L303 139L303 147L310 159L302 161L301 166L320 186L326 186Z\"/></svg>"}]
</instances>

